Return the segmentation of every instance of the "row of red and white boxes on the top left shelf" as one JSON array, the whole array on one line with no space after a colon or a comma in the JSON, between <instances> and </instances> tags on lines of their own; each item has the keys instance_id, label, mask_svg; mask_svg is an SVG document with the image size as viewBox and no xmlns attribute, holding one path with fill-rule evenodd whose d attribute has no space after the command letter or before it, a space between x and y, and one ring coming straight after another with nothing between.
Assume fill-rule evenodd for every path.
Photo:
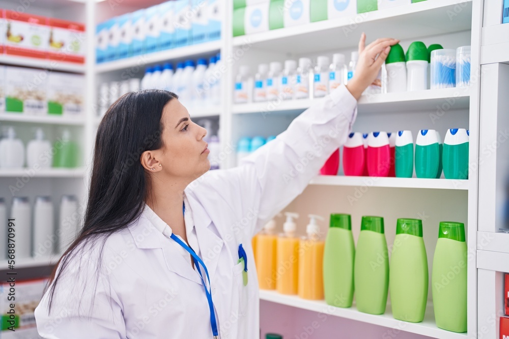
<instances>
[{"instance_id":1,"label":"row of red and white boxes on the top left shelf","mask_svg":"<svg viewBox=\"0 0 509 339\"><path fill-rule=\"evenodd\" d=\"M0 9L0 54L83 64L82 23Z\"/></svg>"}]
</instances>

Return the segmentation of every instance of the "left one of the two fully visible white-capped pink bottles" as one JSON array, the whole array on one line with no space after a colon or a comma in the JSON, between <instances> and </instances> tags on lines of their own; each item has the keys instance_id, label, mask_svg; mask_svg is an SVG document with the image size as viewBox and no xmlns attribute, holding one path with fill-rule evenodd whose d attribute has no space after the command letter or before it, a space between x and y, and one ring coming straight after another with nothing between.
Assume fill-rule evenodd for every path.
<instances>
[{"instance_id":1,"label":"left one of the two fully visible white-capped pink bottles","mask_svg":"<svg viewBox=\"0 0 509 339\"><path fill-rule=\"evenodd\" d=\"M350 133L345 146L343 146L343 172L345 175L360 176L364 175L365 168L364 138L359 132Z\"/></svg>"}]
</instances>

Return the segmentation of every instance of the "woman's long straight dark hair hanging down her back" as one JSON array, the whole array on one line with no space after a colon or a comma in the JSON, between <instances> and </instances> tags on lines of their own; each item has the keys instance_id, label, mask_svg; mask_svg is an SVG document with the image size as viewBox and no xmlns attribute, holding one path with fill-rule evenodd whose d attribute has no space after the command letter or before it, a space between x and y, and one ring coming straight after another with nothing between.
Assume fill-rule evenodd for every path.
<instances>
[{"instance_id":1,"label":"woman's long straight dark hair hanging down her back","mask_svg":"<svg viewBox=\"0 0 509 339\"><path fill-rule=\"evenodd\" d=\"M51 273L49 310L62 272L82 245L125 229L143 212L150 180L140 156L146 150L162 147L162 110L173 99L178 96L166 90L131 92L111 105L102 118L95 140L83 227Z\"/></svg>"}]
</instances>

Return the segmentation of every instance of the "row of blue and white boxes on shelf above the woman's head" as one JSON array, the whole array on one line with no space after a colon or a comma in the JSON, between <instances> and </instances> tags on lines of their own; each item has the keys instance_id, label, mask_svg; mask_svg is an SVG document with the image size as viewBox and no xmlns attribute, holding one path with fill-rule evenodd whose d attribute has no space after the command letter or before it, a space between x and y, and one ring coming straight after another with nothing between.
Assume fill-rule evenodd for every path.
<instances>
[{"instance_id":1,"label":"row of blue and white boxes on shelf above the woman's head","mask_svg":"<svg viewBox=\"0 0 509 339\"><path fill-rule=\"evenodd\" d=\"M97 63L221 38L219 0L174 0L97 25Z\"/></svg>"}]
</instances>

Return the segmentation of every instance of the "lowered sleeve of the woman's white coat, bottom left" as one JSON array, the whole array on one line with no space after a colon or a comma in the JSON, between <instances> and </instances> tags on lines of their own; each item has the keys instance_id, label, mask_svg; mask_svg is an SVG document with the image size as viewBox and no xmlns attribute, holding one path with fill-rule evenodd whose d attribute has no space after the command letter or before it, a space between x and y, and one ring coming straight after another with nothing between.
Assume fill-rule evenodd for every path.
<instances>
[{"instance_id":1,"label":"lowered sleeve of the woman's white coat, bottom left","mask_svg":"<svg viewBox=\"0 0 509 339\"><path fill-rule=\"evenodd\" d=\"M43 338L126 339L121 301L98 271L98 259L97 255L82 256L69 263L56 285L51 312L46 291L35 310Z\"/></svg>"}]
</instances>

